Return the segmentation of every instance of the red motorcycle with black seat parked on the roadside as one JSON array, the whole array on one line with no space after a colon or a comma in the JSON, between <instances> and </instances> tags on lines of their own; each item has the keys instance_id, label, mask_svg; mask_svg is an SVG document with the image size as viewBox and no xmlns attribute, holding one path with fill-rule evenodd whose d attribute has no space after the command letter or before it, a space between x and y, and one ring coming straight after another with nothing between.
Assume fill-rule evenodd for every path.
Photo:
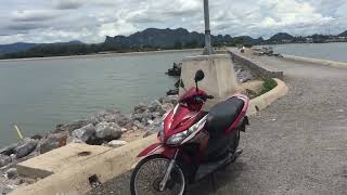
<instances>
[{"instance_id":1,"label":"red motorcycle with black seat parked on the roadside","mask_svg":"<svg viewBox=\"0 0 347 195\"><path fill-rule=\"evenodd\" d=\"M249 99L236 94L203 112L204 103L214 99L197 88L204 77L203 70L196 72L196 88L187 91L167 114L158 142L139 154L144 158L131 176L132 195L182 195L188 184L227 167L242 154L237 150L240 131L249 125Z\"/></svg>"}]
</instances>

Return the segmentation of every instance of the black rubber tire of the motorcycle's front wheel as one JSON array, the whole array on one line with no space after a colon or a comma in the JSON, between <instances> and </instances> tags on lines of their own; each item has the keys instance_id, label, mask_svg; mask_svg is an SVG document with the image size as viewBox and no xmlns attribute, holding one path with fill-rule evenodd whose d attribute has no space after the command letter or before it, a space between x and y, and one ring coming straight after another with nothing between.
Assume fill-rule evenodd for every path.
<instances>
[{"instance_id":1,"label":"black rubber tire of the motorcycle's front wheel","mask_svg":"<svg viewBox=\"0 0 347 195\"><path fill-rule=\"evenodd\" d=\"M170 160L162 155L152 155L152 156L147 156L145 157L144 159L142 159L138 165L137 167L133 169L132 173L131 173L131 180L130 180L130 192L131 192L131 195L139 195L137 194L137 190L136 190L136 179L137 179L137 174L138 172L140 171L141 167L143 165L145 165L146 162L151 161L151 160L154 160L154 159L166 159L166 160ZM188 177L185 176L185 172L183 171L183 169L181 168L182 166L180 166L180 164L177 164L177 167L178 169L180 169L180 171L182 172L183 174L183 180L184 180L184 190L183 190L183 193L180 194L180 195L184 195L187 193L187 188L188 188L188 184L189 184L189 180L188 180Z\"/></svg>"}]
</instances>

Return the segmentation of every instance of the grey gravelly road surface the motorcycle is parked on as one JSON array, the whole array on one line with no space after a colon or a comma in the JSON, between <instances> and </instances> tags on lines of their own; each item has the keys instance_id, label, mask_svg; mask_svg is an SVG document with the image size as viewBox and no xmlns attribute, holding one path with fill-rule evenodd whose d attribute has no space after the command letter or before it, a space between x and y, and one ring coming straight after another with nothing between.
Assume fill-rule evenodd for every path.
<instances>
[{"instance_id":1,"label":"grey gravelly road surface the motorcycle is parked on","mask_svg":"<svg viewBox=\"0 0 347 195\"><path fill-rule=\"evenodd\" d=\"M347 195L347 68L256 57L284 70L290 94L250 118L244 154L194 195ZM130 194L129 173L90 194Z\"/></svg>"}]
</instances>

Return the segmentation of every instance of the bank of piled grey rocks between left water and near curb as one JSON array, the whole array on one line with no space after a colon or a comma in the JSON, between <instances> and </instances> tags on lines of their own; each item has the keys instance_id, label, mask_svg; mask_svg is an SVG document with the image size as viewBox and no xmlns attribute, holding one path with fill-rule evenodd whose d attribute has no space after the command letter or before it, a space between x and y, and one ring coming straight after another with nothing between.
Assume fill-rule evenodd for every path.
<instances>
[{"instance_id":1,"label":"bank of piled grey rocks between left water and near curb","mask_svg":"<svg viewBox=\"0 0 347 195\"><path fill-rule=\"evenodd\" d=\"M104 109L93 116L57 125L40 135L0 147L0 194L34 184L40 179L22 176L17 165L69 143L116 148L159 131L163 116L177 104L177 96L164 96L138 104L130 114Z\"/></svg>"}]
</instances>

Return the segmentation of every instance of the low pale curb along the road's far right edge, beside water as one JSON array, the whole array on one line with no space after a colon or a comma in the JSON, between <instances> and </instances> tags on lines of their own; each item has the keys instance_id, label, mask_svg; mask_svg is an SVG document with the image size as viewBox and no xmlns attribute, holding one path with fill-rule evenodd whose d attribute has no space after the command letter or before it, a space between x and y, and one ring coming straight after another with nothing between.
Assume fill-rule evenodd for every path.
<instances>
[{"instance_id":1,"label":"low pale curb along the road's far right edge, beside water","mask_svg":"<svg viewBox=\"0 0 347 195\"><path fill-rule=\"evenodd\" d=\"M343 62L321 60L321 58L310 58L310 57L303 57L303 56L295 56L295 55L283 55L283 56L285 60L291 60L291 61L299 61L299 62L319 64L324 66L347 68L347 63L343 63Z\"/></svg>"}]
</instances>

